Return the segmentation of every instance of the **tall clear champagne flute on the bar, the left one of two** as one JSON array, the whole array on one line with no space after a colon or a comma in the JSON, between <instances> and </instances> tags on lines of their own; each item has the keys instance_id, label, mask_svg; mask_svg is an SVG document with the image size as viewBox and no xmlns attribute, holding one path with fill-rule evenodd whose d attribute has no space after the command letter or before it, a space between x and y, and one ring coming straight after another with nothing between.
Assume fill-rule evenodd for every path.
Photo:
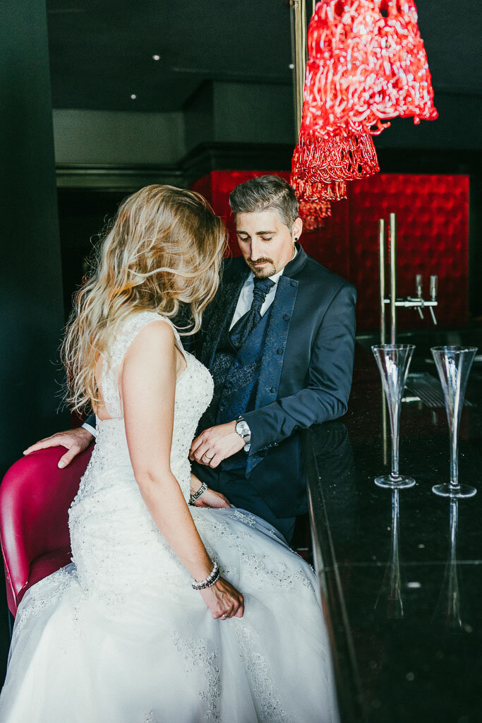
<instances>
[{"instance_id":1,"label":"tall clear champagne flute on the bar, the left one of two","mask_svg":"<svg viewBox=\"0 0 482 723\"><path fill-rule=\"evenodd\" d=\"M371 347L382 377L390 415L390 429L392 430L392 471L390 474L375 478L375 484L379 487L402 489L403 487L413 487L415 484L413 477L401 475L398 469L400 410L408 367L410 367L414 349L413 344L381 344L380 346Z\"/></svg>"}]
</instances>

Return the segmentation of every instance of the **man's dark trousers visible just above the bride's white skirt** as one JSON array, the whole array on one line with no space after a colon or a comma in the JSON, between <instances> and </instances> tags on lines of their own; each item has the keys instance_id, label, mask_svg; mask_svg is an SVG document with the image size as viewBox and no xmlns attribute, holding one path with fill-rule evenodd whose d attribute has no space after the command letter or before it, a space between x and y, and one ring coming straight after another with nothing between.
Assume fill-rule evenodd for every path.
<instances>
[{"instance_id":1,"label":"man's dark trousers visible just above the bride's white skirt","mask_svg":"<svg viewBox=\"0 0 482 723\"><path fill-rule=\"evenodd\" d=\"M211 469L204 464L192 462L192 473L215 492L225 495L231 505L258 515L275 527L286 542L291 542L296 517L275 517L257 489L249 482L249 477L246 477L246 471L243 468L224 471L219 467Z\"/></svg>"}]
</instances>

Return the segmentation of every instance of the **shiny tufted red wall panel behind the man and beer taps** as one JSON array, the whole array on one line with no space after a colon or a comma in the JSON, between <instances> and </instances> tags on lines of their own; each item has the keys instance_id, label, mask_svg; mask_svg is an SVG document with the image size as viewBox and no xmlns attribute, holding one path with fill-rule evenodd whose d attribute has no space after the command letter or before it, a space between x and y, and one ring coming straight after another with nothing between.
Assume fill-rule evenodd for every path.
<instances>
[{"instance_id":1,"label":"shiny tufted red wall panel behind the man and beer taps","mask_svg":"<svg viewBox=\"0 0 482 723\"><path fill-rule=\"evenodd\" d=\"M238 255L229 193L238 183L270 171L212 171L192 188L210 200L230 231L233 255ZM277 173L288 180L288 172ZM355 284L358 289L358 330L375 330L378 323L378 219L397 214L398 295L415 295L415 275L423 275L429 296L429 275L439 275L440 325L468 321L468 176L379 174L353 181L346 201L332 204L323 228L304 234L306 252ZM400 328L430 327L410 309L400 309Z\"/></svg>"}]
</instances>

